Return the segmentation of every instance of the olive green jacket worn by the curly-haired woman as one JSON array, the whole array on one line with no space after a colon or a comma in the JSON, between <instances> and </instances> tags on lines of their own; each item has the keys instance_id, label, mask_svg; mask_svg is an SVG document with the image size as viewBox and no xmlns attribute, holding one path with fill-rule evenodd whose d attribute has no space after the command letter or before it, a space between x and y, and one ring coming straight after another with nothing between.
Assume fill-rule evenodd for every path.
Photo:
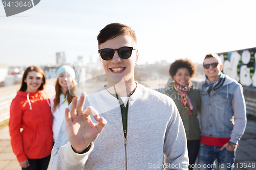
<instances>
[{"instance_id":1,"label":"olive green jacket worn by the curly-haired woman","mask_svg":"<svg viewBox=\"0 0 256 170\"><path fill-rule=\"evenodd\" d=\"M198 113L200 114L201 110L201 96L199 90L192 88L188 91L188 97L193 104L193 114L189 115L187 108L181 106L181 96L178 91L173 88L172 82L168 84L168 89L163 91L164 94L172 98L179 110L182 122L186 131L187 140L198 140L200 139L200 127L199 121L197 118Z\"/></svg>"}]
</instances>

